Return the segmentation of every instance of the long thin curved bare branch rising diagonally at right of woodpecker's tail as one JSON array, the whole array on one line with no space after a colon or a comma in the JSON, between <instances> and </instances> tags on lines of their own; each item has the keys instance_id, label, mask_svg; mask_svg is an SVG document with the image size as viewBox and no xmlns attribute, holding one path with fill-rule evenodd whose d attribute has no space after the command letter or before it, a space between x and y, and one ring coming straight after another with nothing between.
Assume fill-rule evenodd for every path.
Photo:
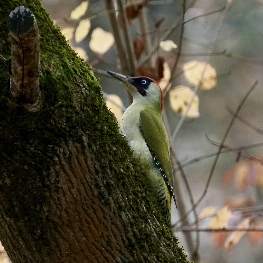
<instances>
[{"instance_id":1,"label":"long thin curved bare branch rising diagonally at right of woodpecker's tail","mask_svg":"<svg viewBox=\"0 0 263 263\"><path fill-rule=\"evenodd\" d=\"M231 121L230 121L230 123L229 123L229 125L228 125L228 127L227 127L227 130L226 130L226 132L225 132L225 134L224 134L224 136L223 136L223 139L222 139L222 141L221 141L221 145L220 145L220 147L219 147L218 153L217 153L216 158L215 158L215 160L214 160L214 163L213 163L213 165L212 165L212 168L211 168L211 171L210 171L208 180L207 180L207 182L206 182L206 186L205 186L205 189L204 189L203 194L202 194L201 197L198 199L198 201L195 203L195 205L194 205L180 220L178 220L178 221L175 223L175 225L178 224L181 220L184 220L184 218L185 218L186 216L188 216L188 215L191 213L191 211L193 211L193 209L195 209L196 206L198 206L198 205L200 204L200 202L203 200L203 198L205 197L205 195L206 195L206 193L207 193L207 191L208 191L208 187L209 187L210 181L211 181L212 176L213 176L213 174L214 174L215 166L216 166L217 161L218 161L218 159L219 159L219 156L220 156L220 153L221 153L221 151L222 151L223 145L224 145L224 143L225 143L225 141L226 141L227 135L229 134L229 131L230 131L230 129L231 129L231 127L232 127L235 119L236 119L237 114L238 114L239 111L241 110L241 108L242 108L243 104L245 103L247 97L248 97L249 94L252 92L252 90L254 90L254 88L256 87L256 85L257 85L257 81L254 83L254 85L252 85L252 87L251 87L251 88L249 89L249 91L246 93L245 97L242 99L241 103L240 103L239 106L237 107L236 112L235 112L234 116L232 117L232 119L231 119Z\"/></svg>"}]
</instances>

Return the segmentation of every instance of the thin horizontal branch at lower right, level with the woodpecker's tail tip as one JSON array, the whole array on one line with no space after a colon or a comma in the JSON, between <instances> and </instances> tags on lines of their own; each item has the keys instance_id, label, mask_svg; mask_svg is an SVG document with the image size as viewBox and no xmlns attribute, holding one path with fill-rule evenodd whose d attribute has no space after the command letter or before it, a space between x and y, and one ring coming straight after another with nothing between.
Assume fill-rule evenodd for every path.
<instances>
[{"instance_id":1,"label":"thin horizontal branch at lower right, level with the woodpecker's tail tip","mask_svg":"<svg viewBox=\"0 0 263 263\"><path fill-rule=\"evenodd\" d=\"M199 231L199 232L232 232L232 231L263 231L263 227L260 226L249 226L249 227L240 227L240 226L229 226L224 229L211 229L211 228L198 228L197 230L194 227L182 226L174 229L175 232L181 231Z\"/></svg>"}]
</instances>

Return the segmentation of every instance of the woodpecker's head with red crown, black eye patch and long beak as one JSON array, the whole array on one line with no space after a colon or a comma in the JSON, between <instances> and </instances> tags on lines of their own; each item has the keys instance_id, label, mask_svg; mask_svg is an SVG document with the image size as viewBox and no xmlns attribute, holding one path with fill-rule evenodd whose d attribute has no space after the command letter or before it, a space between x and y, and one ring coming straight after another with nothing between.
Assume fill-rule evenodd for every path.
<instances>
[{"instance_id":1,"label":"woodpecker's head with red crown, black eye patch and long beak","mask_svg":"<svg viewBox=\"0 0 263 263\"><path fill-rule=\"evenodd\" d=\"M148 77L127 77L108 70L107 72L125 84L133 96L134 103L146 107L157 106L163 110L163 92L155 80Z\"/></svg>"}]
</instances>

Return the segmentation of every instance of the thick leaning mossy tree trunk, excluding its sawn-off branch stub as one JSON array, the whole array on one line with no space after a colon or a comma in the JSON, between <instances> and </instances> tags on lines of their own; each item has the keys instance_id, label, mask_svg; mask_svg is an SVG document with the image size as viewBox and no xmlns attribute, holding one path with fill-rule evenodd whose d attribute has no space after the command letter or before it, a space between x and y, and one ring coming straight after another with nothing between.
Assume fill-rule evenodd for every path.
<instances>
[{"instance_id":1,"label":"thick leaning mossy tree trunk, excluding its sawn-off branch stub","mask_svg":"<svg viewBox=\"0 0 263 263\"><path fill-rule=\"evenodd\" d=\"M18 6L41 38L42 109L9 88L7 18ZM187 262L90 68L39 0L0 6L0 239L16 262Z\"/></svg>"}]
</instances>

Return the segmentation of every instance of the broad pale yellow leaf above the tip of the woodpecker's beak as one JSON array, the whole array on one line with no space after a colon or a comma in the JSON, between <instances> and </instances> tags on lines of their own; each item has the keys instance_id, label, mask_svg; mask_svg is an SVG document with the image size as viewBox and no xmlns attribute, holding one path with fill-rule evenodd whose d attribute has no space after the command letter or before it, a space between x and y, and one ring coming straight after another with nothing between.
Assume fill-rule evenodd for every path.
<instances>
[{"instance_id":1,"label":"broad pale yellow leaf above the tip of the woodpecker's beak","mask_svg":"<svg viewBox=\"0 0 263 263\"><path fill-rule=\"evenodd\" d=\"M97 27L91 33L89 48L100 55L106 53L114 43L113 34Z\"/></svg>"}]
</instances>

